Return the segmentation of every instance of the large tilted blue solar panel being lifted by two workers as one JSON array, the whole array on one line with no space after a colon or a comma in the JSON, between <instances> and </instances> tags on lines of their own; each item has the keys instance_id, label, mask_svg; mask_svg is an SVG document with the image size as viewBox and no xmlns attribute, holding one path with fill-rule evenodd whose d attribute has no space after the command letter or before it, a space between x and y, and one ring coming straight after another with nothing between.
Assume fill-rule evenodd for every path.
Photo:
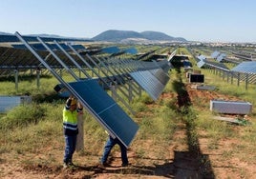
<instances>
[{"instance_id":1,"label":"large tilted blue solar panel being lifted by two workers","mask_svg":"<svg viewBox=\"0 0 256 179\"><path fill-rule=\"evenodd\" d=\"M101 89L95 79L72 82L69 85L96 115L105 129L114 134L126 147L135 137L139 126L121 109L117 103Z\"/></svg>"}]
</instances>

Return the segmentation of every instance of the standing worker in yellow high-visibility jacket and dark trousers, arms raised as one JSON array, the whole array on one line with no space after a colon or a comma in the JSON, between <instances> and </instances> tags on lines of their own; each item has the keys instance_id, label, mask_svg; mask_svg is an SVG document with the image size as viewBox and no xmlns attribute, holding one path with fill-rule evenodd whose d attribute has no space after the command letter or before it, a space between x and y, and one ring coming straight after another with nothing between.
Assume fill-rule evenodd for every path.
<instances>
[{"instance_id":1,"label":"standing worker in yellow high-visibility jacket and dark trousers, arms raised","mask_svg":"<svg viewBox=\"0 0 256 179\"><path fill-rule=\"evenodd\" d=\"M73 154L75 152L76 136L78 134L77 116L82 114L83 107L74 96L70 96L63 109L63 130L65 136L65 154L63 167L74 166Z\"/></svg>"}]
</instances>

